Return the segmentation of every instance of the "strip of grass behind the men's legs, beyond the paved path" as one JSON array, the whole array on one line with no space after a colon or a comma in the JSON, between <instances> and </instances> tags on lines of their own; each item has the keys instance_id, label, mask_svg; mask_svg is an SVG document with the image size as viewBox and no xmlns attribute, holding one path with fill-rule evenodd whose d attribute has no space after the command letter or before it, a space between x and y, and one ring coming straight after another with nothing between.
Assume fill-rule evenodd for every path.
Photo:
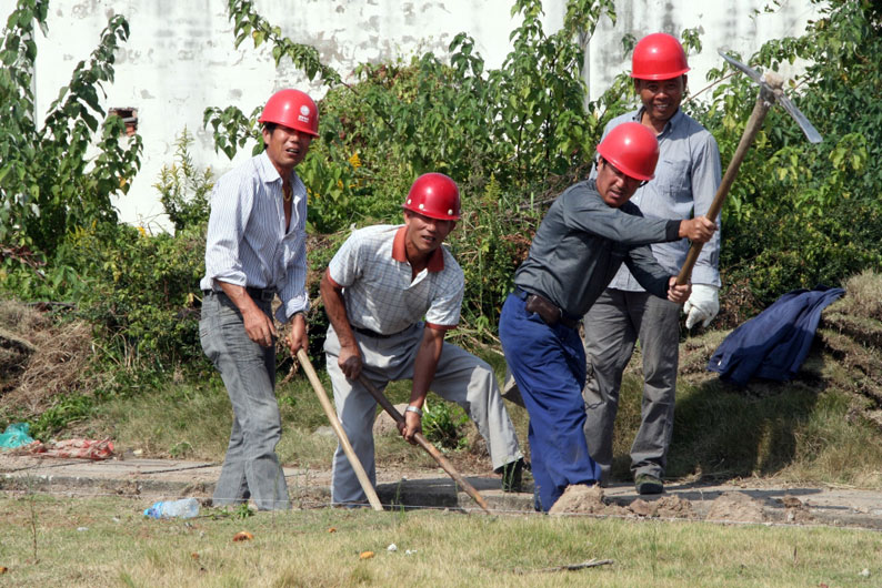
<instances>
[{"instance_id":1,"label":"strip of grass behind the men's legs, beyond the paved path","mask_svg":"<svg viewBox=\"0 0 882 588\"><path fill-rule=\"evenodd\" d=\"M502 357L492 352L483 357L501 379ZM640 424L642 395L639 365L635 355L622 384L613 439L613 480L618 481L631 479L629 452ZM696 372L689 363L686 366L678 384L669 478L761 476L882 487L882 435L860 417L856 408L861 399L850 392L848 371L835 361L815 355L810 362L814 372L804 378L789 384L752 383L746 389ZM319 375L330 391L327 373L320 369ZM407 402L409 394L409 382L393 383L387 389L393 403ZM307 378L294 374L289 383L279 384L277 396L284 427L278 447L282 462L329 469L337 440L313 434L328 420ZM430 403L442 401L430 397ZM527 412L511 403L508 407L525 446ZM97 417L78 426L92 436L111 436L120 448L142 449L149 456L210 462L223 458L232 418L227 393L217 376L117 396L101 403L96 412ZM472 425L463 428L469 427ZM449 455L454 459L468 457L470 450L467 446L450 450ZM428 455L397 435L377 438L377 456L381 467L435 467Z\"/></svg>"}]
</instances>

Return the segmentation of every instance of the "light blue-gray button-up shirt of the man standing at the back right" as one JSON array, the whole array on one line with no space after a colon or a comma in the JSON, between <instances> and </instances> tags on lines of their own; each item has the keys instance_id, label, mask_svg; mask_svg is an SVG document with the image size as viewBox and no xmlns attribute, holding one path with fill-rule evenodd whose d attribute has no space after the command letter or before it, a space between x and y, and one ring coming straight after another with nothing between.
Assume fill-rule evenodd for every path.
<instances>
[{"instance_id":1,"label":"light blue-gray button-up shirt of the man standing at the back right","mask_svg":"<svg viewBox=\"0 0 882 588\"><path fill-rule=\"evenodd\" d=\"M623 122L640 122L643 107L634 112L611 120L603 136ZM705 214L720 186L720 150L716 141L704 126L678 110L658 135L659 163L655 178L638 189L631 202L638 205L647 219L691 219ZM597 166L591 178L597 179ZM671 274L680 273L686 258L689 241L681 239L672 243L655 243L652 254L659 264ZM693 284L720 285L720 231L704 244L692 271ZM640 292L643 288L628 267L622 266L610 286L617 290Z\"/></svg>"}]
</instances>

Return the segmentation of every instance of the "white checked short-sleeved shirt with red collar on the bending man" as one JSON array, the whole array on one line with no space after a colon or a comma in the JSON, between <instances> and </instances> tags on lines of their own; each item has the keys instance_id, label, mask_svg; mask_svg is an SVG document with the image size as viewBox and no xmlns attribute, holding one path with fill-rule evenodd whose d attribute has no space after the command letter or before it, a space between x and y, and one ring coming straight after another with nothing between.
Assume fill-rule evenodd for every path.
<instances>
[{"instance_id":1,"label":"white checked short-sleeved shirt with red collar on the bending man","mask_svg":"<svg viewBox=\"0 0 882 588\"><path fill-rule=\"evenodd\" d=\"M354 231L331 260L330 278L343 288L352 326L392 335L422 320L443 330L459 324L462 268L440 246L429 266L413 277L404 252L405 230L374 225Z\"/></svg>"}]
</instances>

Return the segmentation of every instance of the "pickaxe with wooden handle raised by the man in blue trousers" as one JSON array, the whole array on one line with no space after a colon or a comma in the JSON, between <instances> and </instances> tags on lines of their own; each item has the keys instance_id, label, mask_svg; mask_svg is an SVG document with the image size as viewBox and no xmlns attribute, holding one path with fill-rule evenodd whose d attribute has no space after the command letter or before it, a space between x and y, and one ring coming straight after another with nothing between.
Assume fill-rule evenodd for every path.
<instances>
[{"instance_id":1,"label":"pickaxe with wooden handle raised by the man in blue trousers","mask_svg":"<svg viewBox=\"0 0 882 588\"><path fill-rule=\"evenodd\" d=\"M796 121L796 124L800 125L800 129L802 129L802 132L805 133L810 142L821 142L821 133L812 126L812 123L800 112L800 109L793 105L793 102L784 95L784 91L781 89L784 84L783 78L772 71L766 71L761 75L756 70L730 58L722 51L718 51L718 53L729 63L746 73L751 80L756 82L760 87L760 95L756 98L756 104L753 107L753 112L751 112L750 119L748 120L748 125L744 128L744 133L741 135L741 141L738 143L735 154L732 155L732 161L729 162L729 168L725 169L725 174L723 175L722 182L720 182L720 187L716 189L716 195L713 197L711 207L708 209L708 212L704 214L711 220L716 219L720 214L725 196L729 194L729 189L732 187L732 182L735 181L738 170L741 168L741 162L744 161L744 155L748 153L751 143L753 143L753 138L756 136L756 133L760 131L762 121L765 119L765 114L769 112L769 109L772 108L773 103L778 102L784 107L784 110L793 116L793 120ZM701 246L702 243L692 243L692 246L689 247L686 261L683 263L683 267L676 276L678 284L682 285L689 282L692 275L692 268L695 266L699 253L701 253Z\"/></svg>"}]
</instances>

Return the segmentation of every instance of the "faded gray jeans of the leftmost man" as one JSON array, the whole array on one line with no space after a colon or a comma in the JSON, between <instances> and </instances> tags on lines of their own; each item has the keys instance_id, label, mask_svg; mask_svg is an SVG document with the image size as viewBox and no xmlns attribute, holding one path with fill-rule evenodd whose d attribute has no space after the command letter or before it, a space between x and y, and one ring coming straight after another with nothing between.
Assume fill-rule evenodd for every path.
<instances>
[{"instance_id":1,"label":"faded gray jeans of the leftmost man","mask_svg":"<svg viewBox=\"0 0 882 588\"><path fill-rule=\"evenodd\" d=\"M270 302L255 301L271 315ZM233 408L214 506L254 499L261 510L291 508L284 473L275 455L282 436L275 401L275 346L261 347L245 333L239 310L222 293L207 294L199 322L202 351L221 374Z\"/></svg>"}]
</instances>

